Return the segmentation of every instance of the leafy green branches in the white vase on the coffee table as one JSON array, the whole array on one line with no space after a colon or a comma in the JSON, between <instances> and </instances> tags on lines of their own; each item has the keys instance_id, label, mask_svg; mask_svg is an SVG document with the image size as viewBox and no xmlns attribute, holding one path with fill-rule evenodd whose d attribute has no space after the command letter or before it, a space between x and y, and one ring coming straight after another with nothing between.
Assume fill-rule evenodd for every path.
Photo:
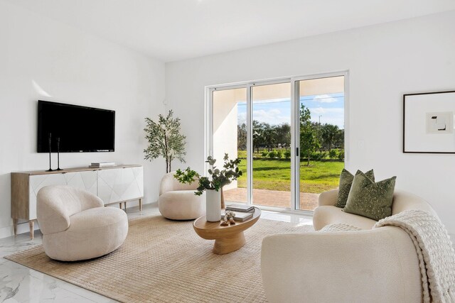
<instances>
[{"instance_id":1,"label":"leafy green branches in the white vase on the coffee table","mask_svg":"<svg viewBox=\"0 0 455 303\"><path fill-rule=\"evenodd\" d=\"M238 177L242 175L242 171L239 170L238 165L240 164L240 159L236 158L235 160L229 160L229 155L225 153L223 158L225 164L223 165L223 170L219 170L215 167L216 159L213 159L212 156L207 157L206 163L208 163L211 168L208 169L211 180L209 177L200 177L200 175L191 170L190 167L187 167L186 170L177 170L176 179L182 183L191 184L194 181L198 180L199 187L196 190L195 194L202 194L205 189L215 189L216 192L220 192L221 205L220 208L225 208L225 202L223 197L223 186L230 184L230 182L237 180ZM209 194L208 194L209 195ZM207 201L209 201L208 195L206 196ZM218 221L218 220L217 220Z\"/></svg>"}]
</instances>

